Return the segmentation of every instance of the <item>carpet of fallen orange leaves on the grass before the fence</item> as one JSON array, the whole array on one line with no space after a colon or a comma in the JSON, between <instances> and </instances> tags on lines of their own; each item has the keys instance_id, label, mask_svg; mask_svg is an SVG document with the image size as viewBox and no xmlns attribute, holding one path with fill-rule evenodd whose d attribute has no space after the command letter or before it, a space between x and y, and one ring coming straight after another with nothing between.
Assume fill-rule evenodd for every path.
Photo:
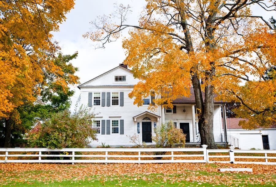
<instances>
[{"instance_id":1,"label":"carpet of fallen orange leaves on the grass before the fence","mask_svg":"<svg viewBox=\"0 0 276 187\"><path fill-rule=\"evenodd\" d=\"M219 172L218 168L252 168L253 172ZM241 186L247 184L275 185L276 166L255 164L206 164L206 163L162 163L162 164L32 164L32 163L1 163L0 185L12 182L34 181L80 181L143 180L148 184L157 185L156 179L162 184L181 181L195 182L199 185L210 183L215 185Z\"/></svg>"}]
</instances>

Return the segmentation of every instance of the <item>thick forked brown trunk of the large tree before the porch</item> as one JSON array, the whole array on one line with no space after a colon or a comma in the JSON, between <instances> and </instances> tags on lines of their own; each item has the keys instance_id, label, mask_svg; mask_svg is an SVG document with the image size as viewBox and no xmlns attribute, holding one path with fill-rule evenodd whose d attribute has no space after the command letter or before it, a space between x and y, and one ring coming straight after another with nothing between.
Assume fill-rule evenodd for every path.
<instances>
[{"instance_id":1,"label":"thick forked brown trunk of the large tree before the porch","mask_svg":"<svg viewBox=\"0 0 276 187\"><path fill-rule=\"evenodd\" d=\"M207 85L205 87L205 100L203 103L200 82L196 75L192 76L192 83L197 107L198 130L201 137L201 145L208 145L208 149L217 149L213 133L213 86Z\"/></svg>"}]
</instances>

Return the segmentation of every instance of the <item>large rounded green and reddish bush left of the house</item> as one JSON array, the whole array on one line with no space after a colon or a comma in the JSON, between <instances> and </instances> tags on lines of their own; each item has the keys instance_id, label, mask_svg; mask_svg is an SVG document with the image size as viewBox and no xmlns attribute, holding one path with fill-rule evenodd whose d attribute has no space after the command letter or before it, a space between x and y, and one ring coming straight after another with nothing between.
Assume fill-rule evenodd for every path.
<instances>
[{"instance_id":1,"label":"large rounded green and reddish bush left of the house","mask_svg":"<svg viewBox=\"0 0 276 187\"><path fill-rule=\"evenodd\" d=\"M27 136L30 147L84 148L89 139L97 140L96 129L92 127L94 114L82 108L73 114L64 110L53 114L46 122Z\"/></svg>"}]
</instances>

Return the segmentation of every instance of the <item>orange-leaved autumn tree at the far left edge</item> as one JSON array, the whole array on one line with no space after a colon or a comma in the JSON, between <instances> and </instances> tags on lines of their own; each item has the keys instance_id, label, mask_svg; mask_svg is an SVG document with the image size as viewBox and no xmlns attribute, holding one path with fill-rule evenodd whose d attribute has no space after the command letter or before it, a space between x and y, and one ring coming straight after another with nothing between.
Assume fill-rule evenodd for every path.
<instances>
[{"instance_id":1,"label":"orange-leaved autumn tree at the far left edge","mask_svg":"<svg viewBox=\"0 0 276 187\"><path fill-rule=\"evenodd\" d=\"M74 0L0 1L0 118L6 125L5 147L10 147L11 123L20 123L17 107L35 101L45 77L67 87L54 63L59 48L51 32L58 31L73 6Z\"/></svg>"}]
</instances>

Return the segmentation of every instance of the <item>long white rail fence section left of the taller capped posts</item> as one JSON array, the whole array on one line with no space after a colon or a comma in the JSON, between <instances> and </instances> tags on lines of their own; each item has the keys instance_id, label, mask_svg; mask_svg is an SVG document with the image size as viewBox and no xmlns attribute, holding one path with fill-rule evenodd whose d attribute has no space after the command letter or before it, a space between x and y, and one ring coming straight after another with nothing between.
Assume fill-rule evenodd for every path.
<instances>
[{"instance_id":1,"label":"long white rail fence section left of the taller capped posts","mask_svg":"<svg viewBox=\"0 0 276 187\"><path fill-rule=\"evenodd\" d=\"M206 162L207 159L206 148L0 148L0 154L1 152L5 154L0 155L0 163L172 163ZM158 152L167 154L158 155ZM59 160L53 159L54 157ZM162 159L156 159L161 157ZM193 159L185 159L187 157Z\"/></svg>"}]
</instances>

